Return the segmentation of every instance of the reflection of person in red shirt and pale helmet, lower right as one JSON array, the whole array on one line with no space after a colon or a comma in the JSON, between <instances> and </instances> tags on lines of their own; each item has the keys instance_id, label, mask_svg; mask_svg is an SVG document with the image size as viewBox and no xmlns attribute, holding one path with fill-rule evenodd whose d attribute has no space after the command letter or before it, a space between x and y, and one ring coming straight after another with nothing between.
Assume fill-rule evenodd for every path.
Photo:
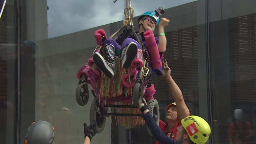
<instances>
[{"instance_id":1,"label":"reflection of person in red shirt and pale helmet, lower right","mask_svg":"<svg viewBox=\"0 0 256 144\"><path fill-rule=\"evenodd\" d=\"M234 117L236 120L228 127L229 144L253 144L253 127L250 122L243 120L243 110L235 109Z\"/></svg>"}]
</instances>

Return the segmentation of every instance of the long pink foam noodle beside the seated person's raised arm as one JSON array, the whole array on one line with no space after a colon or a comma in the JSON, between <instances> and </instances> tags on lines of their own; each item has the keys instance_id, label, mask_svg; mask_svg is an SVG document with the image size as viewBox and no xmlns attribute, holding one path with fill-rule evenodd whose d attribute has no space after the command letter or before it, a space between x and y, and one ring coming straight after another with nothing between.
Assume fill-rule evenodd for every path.
<instances>
[{"instance_id":1,"label":"long pink foam noodle beside the seated person's raised arm","mask_svg":"<svg viewBox=\"0 0 256 144\"><path fill-rule=\"evenodd\" d=\"M155 40L155 36L153 31L145 31L144 32L144 37L147 42L147 47L150 53L150 58L151 58L151 64L153 69L158 69L162 67L162 62L160 59L157 43Z\"/></svg>"}]
</instances>

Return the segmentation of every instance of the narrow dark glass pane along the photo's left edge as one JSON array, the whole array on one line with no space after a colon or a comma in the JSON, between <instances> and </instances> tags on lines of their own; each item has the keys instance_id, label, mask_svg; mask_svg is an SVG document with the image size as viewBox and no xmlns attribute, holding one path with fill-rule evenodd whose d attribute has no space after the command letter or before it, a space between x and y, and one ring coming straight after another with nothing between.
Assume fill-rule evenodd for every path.
<instances>
[{"instance_id":1,"label":"narrow dark glass pane along the photo's left edge","mask_svg":"<svg viewBox=\"0 0 256 144\"><path fill-rule=\"evenodd\" d=\"M17 83L15 5L0 0L0 141L14 143Z\"/></svg>"}]
</instances>

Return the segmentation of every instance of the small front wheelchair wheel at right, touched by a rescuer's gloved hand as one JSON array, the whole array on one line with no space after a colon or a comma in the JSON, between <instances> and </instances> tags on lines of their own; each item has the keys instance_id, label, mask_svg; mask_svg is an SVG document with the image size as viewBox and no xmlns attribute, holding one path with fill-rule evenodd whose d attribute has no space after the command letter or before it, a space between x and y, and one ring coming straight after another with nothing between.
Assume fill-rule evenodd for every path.
<instances>
[{"instance_id":1,"label":"small front wheelchair wheel at right, touched by a rescuer's gloved hand","mask_svg":"<svg viewBox=\"0 0 256 144\"><path fill-rule=\"evenodd\" d=\"M141 83L136 83L133 87L133 103L139 108L142 103L143 96L143 85Z\"/></svg>"}]
</instances>

